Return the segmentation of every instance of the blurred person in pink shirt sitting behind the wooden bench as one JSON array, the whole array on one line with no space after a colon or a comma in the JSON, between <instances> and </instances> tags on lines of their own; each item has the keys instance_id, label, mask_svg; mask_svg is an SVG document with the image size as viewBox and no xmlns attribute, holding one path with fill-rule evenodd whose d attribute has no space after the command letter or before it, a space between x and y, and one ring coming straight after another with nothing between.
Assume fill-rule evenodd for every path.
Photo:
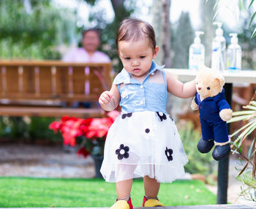
<instances>
[{"instance_id":1,"label":"blurred person in pink shirt sitting behind the wooden bench","mask_svg":"<svg viewBox=\"0 0 256 209\"><path fill-rule=\"evenodd\" d=\"M97 49L100 44L99 31L95 28L83 31L81 42L83 47L77 47L67 52L62 58L66 63L110 63L110 58Z\"/></svg>"}]
</instances>

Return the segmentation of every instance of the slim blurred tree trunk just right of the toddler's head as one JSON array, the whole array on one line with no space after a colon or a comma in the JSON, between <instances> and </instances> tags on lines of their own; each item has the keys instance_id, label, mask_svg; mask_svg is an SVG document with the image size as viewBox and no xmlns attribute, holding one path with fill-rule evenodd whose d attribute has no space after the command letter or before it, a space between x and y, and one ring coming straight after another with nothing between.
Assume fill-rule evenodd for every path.
<instances>
[{"instance_id":1,"label":"slim blurred tree trunk just right of the toddler's head","mask_svg":"<svg viewBox=\"0 0 256 209\"><path fill-rule=\"evenodd\" d=\"M162 0L162 63L170 68L172 60L170 58L170 0Z\"/></svg>"}]
</instances>

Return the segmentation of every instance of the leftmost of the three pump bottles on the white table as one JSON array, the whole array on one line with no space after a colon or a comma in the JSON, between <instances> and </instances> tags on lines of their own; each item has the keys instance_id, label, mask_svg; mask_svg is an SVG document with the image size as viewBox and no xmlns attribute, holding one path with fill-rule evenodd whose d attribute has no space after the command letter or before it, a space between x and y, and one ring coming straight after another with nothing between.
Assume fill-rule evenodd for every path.
<instances>
[{"instance_id":1,"label":"leftmost of the three pump bottles on the white table","mask_svg":"<svg viewBox=\"0 0 256 209\"><path fill-rule=\"evenodd\" d=\"M201 44L200 35L203 31L195 31L194 43L189 47L189 69L197 70L198 66L204 65L205 47Z\"/></svg>"}]
</instances>

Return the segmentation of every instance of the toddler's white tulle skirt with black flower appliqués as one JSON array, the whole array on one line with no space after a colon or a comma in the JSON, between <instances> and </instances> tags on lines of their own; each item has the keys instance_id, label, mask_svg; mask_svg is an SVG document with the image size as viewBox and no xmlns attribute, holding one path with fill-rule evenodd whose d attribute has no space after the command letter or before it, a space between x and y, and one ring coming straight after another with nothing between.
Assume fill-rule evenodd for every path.
<instances>
[{"instance_id":1,"label":"toddler's white tulle skirt with black flower appliqu\u00e9s","mask_svg":"<svg viewBox=\"0 0 256 209\"><path fill-rule=\"evenodd\" d=\"M173 119L153 111L121 114L108 131L100 172L117 182L149 176L172 182L188 162Z\"/></svg>"}]
</instances>

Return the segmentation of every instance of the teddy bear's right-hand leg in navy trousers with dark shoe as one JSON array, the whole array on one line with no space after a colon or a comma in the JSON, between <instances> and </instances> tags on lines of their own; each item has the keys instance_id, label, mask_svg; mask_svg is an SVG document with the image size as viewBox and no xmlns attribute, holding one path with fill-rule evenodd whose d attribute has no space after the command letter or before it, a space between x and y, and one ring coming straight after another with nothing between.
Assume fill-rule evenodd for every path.
<instances>
[{"instance_id":1,"label":"teddy bear's right-hand leg in navy trousers with dark shoe","mask_svg":"<svg viewBox=\"0 0 256 209\"><path fill-rule=\"evenodd\" d=\"M230 154L230 139L228 138L226 122L219 122L214 125L214 143L216 145L212 152L214 159L221 160Z\"/></svg>"}]
</instances>

